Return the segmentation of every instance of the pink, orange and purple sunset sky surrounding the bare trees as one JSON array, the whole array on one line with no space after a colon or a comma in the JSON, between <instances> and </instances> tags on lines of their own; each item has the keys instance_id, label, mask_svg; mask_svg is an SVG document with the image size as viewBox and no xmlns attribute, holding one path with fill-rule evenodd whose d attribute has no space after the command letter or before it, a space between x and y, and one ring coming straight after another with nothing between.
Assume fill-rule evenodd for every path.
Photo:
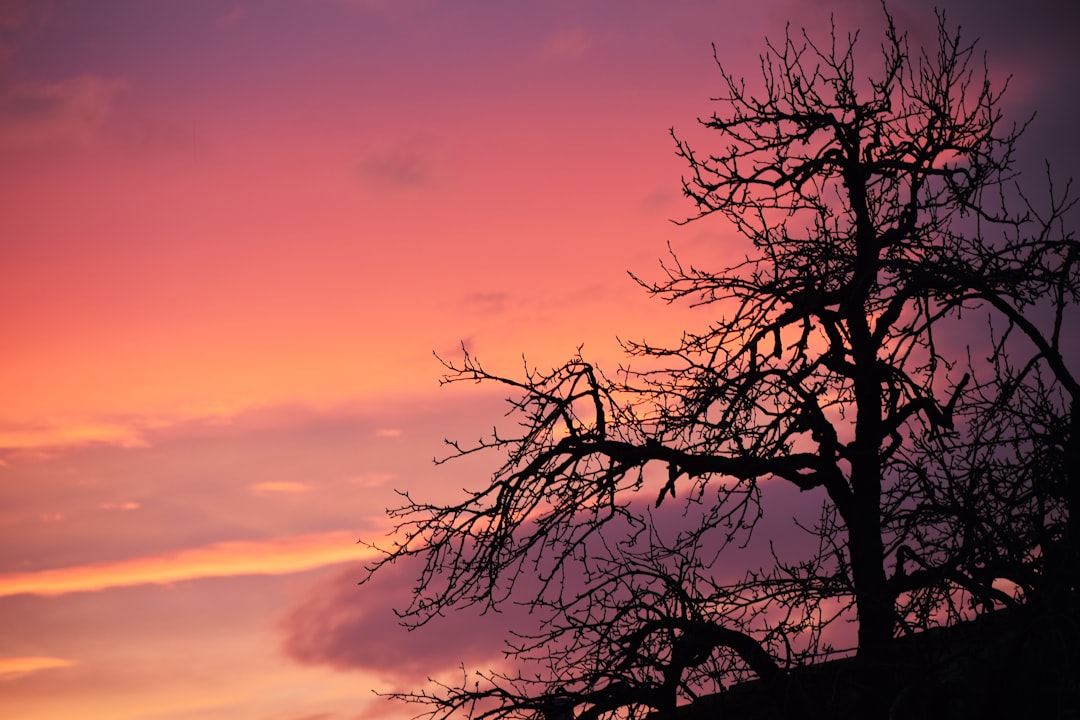
<instances>
[{"instance_id":1,"label":"pink, orange and purple sunset sky surrounding the bare trees","mask_svg":"<svg viewBox=\"0 0 1080 720\"><path fill-rule=\"evenodd\" d=\"M944 8L1067 177L1072 2ZM876 42L876 0L0 0L0 717L407 718L372 691L498 662L512 616L405 634L407 572L355 584L395 488L495 460L432 464L503 412L433 351L702 317L626 275L725 258L669 128L711 43L750 76L829 12Z\"/></svg>"}]
</instances>

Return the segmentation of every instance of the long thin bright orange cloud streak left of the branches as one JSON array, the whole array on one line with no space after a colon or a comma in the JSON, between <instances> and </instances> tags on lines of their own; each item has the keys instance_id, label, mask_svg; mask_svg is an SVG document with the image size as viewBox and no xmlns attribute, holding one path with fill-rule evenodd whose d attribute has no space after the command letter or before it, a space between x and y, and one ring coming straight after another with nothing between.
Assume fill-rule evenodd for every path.
<instances>
[{"instance_id":1,"label":"long thin bright orange cloud streak left of the branches","mask_svg":"<svg viewBox=\"0 0 1080 720\"><path fill-rule=\"evenodd\" d=\"M172 553L70 568L0 574L0 597L66 595L198 578L286 575L372 555L350 531L221 542Z\"/></svg>"}]
</instances>

